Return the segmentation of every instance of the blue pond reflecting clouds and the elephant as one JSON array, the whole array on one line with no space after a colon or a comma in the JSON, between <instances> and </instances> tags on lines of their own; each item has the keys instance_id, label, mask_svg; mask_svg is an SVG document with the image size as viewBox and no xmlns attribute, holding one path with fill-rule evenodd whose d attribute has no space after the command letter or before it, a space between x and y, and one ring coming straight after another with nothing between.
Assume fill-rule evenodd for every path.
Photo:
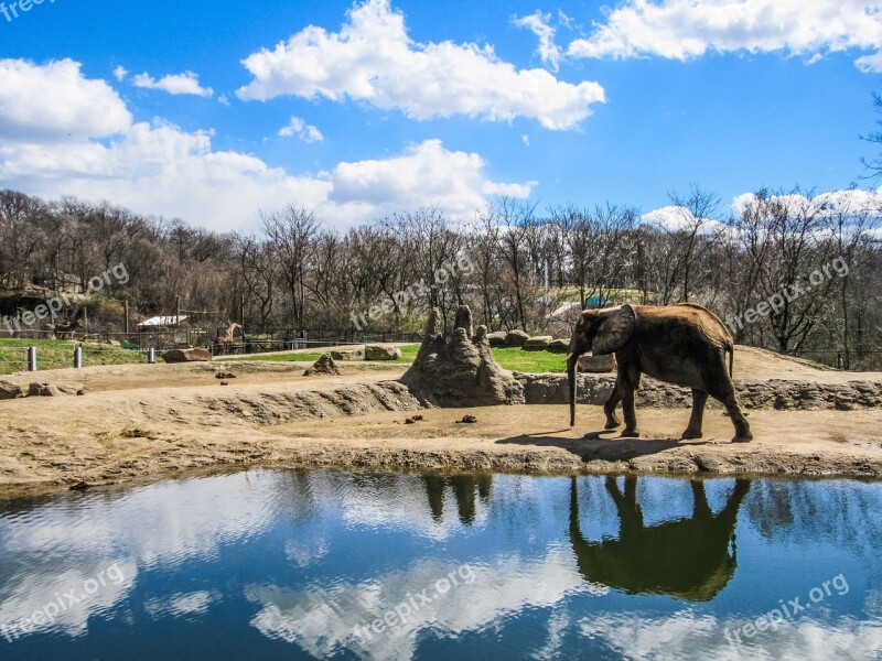
<instances>
[{"instance_id":1,"label":"blue pond reflecting clouds and the elephant","mask_svg":"<svg viewBox=\"0 0 882 661\"><path fill-rule=\"evenodd\" d=\"M878 483L250 470L0 502L0 659L878 659L881 550Z\"/></svg>"}]
</instances>

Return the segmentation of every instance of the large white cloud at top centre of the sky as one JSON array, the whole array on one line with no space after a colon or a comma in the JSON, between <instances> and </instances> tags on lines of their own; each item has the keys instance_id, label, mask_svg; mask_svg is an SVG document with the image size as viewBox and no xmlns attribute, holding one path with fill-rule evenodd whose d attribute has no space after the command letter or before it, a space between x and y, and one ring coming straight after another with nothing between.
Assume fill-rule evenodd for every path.
<instances>
[{"instance_id":1,"label":"large white cloud at top centre of the sky","mask_svg":"<svg viewBox=\"0 0 882 661\"><path fill-rule=\"evenodd\" d=\"M596 83L572 85L544 69L516 69L492 46L416 43L389 0L357 6L338 33L310 25L244 64L255 79L237 91L243 100L348 97L418 120L527 117L563 130L576 128L592 104L604 101Z\"/></svg>"}]
</instances>

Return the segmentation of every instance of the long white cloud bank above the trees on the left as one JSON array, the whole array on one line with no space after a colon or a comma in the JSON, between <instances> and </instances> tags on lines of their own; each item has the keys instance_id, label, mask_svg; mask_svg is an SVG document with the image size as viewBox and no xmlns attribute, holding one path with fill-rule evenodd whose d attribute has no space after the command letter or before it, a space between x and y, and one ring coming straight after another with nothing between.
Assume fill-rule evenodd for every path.
<instances>
[{"instance_id":1,"label":"long white cloud bank above the trees on the left","mask_svg":"<svg viewBox=\"0 0 882 661\"><path fill-rule=\"evenodd\" d=\"M4 94L11 89L18 94ZM45 105L60 95L66 104ZM41 113L39 121L31 109ZM119 96L106 83L84 78L71 61L0 63L0 133L17 138L0 142L2 187L110 199L218 230L241 228L259 209L289 203L337 225L431 204L464 220L490 192L526 196L534 185L494 182L480 154L450 151L438 140L387 159L292 175L255 155L215 150L212 131L187 132L162 120L132 124Z\"/></svg>"}]
</instances>

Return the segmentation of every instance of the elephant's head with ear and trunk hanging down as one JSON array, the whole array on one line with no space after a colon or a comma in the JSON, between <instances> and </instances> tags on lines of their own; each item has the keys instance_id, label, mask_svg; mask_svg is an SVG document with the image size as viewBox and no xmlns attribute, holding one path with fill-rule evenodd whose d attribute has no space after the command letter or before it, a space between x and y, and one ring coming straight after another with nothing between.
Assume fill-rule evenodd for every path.
<instances>
[{"instance_id":1,"label":"elephant's head with ear and trunk hanging down","mask_svg":"<svg viewBox=\"0 0 882 661\"><path fill-rule=\"evenodd\" d=\"M567 386L570 393L570 426L576 425L576 366L579 356L591 351L594 356L613 354L631 338L637 315L631 305L585 310L582 312L570 340L567 355Z\"/></svg>"}]
</instances>

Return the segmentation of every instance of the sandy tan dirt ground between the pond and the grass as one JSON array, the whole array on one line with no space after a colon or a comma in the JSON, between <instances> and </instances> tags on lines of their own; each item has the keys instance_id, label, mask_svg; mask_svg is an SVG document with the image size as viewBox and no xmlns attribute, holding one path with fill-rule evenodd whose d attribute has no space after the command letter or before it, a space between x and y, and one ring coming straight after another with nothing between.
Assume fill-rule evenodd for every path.
<instances>
[{"instance_id":1,"label":"sandy tan dirt ground between the pond and the grass","mask_svg":"<svg viewBox=\"0 0 882 661\"><path fill-rule=\"evenodd\" d=\"M756 349L739 347L735 356L736 380L882 379ZM680 441L687 408L638 408L642 437L623 440L603 431L600 407L580 405L574 429L561 404L423 409L395 381L405 366L342 362L342 376L303 377L308 366L40 372L40 381L79 381L86 394L0 401L0 497L245 466L882 478L881 408L753 410L750 444L730 444L732 425L719 410L708 410L703 438ZM217 371L236 378L222 386ZM422 420L406 424L413 415ZM477 422L460 423L465 415Z\"/></svg>"}]
</instances>

